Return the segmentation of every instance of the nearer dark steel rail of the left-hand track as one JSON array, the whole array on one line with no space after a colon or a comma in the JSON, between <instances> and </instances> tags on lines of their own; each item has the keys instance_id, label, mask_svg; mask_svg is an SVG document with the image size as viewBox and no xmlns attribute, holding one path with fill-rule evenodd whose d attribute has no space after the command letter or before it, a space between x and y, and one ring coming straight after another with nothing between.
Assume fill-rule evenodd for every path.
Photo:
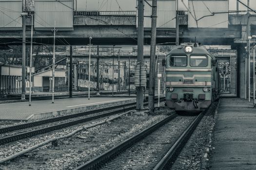
<instances>
[{"instance_id":1,"label":"nearer dark steel rail of the left-hand track","mask_svg":"<svg viewBox=\"0 0 256 170\"><path fill-rule=\"evenodd\" d=\"M146 105L146 104L147 104L147 102L144 103L144 105ZM124 106L121 106L121 107L124 107ZM14 141L24 139L24 138L27 138L27 137L32 137L32 136L48 133L48 132L51 132L51 131L54 131L54 130L59 130L59 129L69 127L69 126L73 126L73 125L83 123L83 122L86 122L86 121L99 119L99 118L103 118L103 117L106 117L106 116L111 116L111 115L123 112L125 110L131 110L131 109L134 109L134 108L136 108L136 106L131 106L131 107L128 107L128 108L122 108L122 109L119 109L119 110L116 110L116 111L103 113L103 114L100 114L100 115L87 117L87 118L84 118L84 119L78 119L78 120L73 120L73 121L69 121L69 122L64 122L64 123L60 123L60 124L57 124L57 125L52 125L52 126L37 129L37 130L34 130L34 131L30 131L30 132L24 132L24 133L12 135L12 136L2 137L2 138L0 138L0 145L10 143L10 142L14 142ZM105 109L103 109L103 111L105 111L106 109L109 109L109 108L105 108ZM98 110L102 111L102 109L98 109ZM59 118L61 118L61 117L59 117Z\"/></svg>"}]
</instances>

